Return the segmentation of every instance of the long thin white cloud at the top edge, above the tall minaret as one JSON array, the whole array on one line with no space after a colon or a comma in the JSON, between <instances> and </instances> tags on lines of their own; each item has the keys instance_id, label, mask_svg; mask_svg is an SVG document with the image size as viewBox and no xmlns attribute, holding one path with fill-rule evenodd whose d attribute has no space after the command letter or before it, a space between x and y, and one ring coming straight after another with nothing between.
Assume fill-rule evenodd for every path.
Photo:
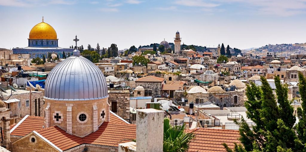
<instances>
[{"instance_id":1,"label":"long thin white cloud at the top edge, above the tall minaret","mask_svg":"<svg viewBox=\"0 0 306 152\"><path fill-rule=\"evenodd\" d=\"M194 7L217 7L220 4L205 2L204 0L177 0L177 5L194 6Z\"/></svg>"}]
</instances>

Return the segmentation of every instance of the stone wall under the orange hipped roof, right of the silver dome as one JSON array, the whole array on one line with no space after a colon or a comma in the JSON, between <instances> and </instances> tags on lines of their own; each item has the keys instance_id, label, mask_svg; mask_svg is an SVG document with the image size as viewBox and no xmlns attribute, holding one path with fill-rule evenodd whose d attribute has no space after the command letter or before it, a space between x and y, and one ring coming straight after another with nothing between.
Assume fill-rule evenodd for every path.
<instances>
[{"instance_id":1,"label":"stone wall under the orange hipped roof, right of the silver dome","mask_svg":"<svg viewBox=\"0 0 306 152\"><path fill-rule=\"evenodd\" d=\"M162 82L140 82L136 81L136 86L144 87L144 90L152 90L152 98L161 96Z\"/></svg>"}]
</instances>

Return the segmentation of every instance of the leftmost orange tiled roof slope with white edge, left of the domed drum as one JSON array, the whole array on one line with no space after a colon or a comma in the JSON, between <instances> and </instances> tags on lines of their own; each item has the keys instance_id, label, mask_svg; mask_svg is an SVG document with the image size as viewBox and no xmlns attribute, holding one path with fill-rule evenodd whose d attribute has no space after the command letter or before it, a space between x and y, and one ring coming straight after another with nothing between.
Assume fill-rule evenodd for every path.
<instances>
[{"instance_id":1,"label":"leftmost orange tiled roof slope with white edge, left of the domed drum","mask_svg":"<svg viewBox=\"0 0 306 152\"><path fill-rule=\"evenodd\" d=\"M43 129L44 118L26 115L11 129L12 136L25 136L32 131Z\"/></svg>"}]
</instances>

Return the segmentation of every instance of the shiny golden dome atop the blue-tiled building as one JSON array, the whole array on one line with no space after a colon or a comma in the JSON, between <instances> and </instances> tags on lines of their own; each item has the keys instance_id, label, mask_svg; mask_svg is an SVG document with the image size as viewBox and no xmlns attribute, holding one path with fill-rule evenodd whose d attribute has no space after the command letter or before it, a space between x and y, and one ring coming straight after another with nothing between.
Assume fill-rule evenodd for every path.
<instances>
[{"instance_id":1,"label":"shiny golden dome atop the blue-tiled building","mask_svg":"<svg viewBox=\"0 0 306 152\"><path fill-rule=\"evenodd\" d=\"M41 22L32 28L29 39L56 40L57 34L51 25Z\"/></svg>"}]
</instances>

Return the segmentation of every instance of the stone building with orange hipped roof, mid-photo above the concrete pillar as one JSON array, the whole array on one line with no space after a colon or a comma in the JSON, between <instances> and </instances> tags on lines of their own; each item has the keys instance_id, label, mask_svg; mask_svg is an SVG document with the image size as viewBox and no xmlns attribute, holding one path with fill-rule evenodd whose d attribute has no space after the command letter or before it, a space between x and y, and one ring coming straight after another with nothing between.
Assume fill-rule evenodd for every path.
<instances>
[{"instance_id":1,"label":"stone building with orange hipped roof, mid-photo above the concrete pillar","mask_svg":"<svg viewBox=\"0 0 306 152\"><path fill-rule=\"evenodd\" d=\"M164 78L159 78L155 76L146 76L137 79L136 86L144 87L144 96L152 96L155 98L161 96L162 85L164 84Z\"/></svg>"}]
</instances>

